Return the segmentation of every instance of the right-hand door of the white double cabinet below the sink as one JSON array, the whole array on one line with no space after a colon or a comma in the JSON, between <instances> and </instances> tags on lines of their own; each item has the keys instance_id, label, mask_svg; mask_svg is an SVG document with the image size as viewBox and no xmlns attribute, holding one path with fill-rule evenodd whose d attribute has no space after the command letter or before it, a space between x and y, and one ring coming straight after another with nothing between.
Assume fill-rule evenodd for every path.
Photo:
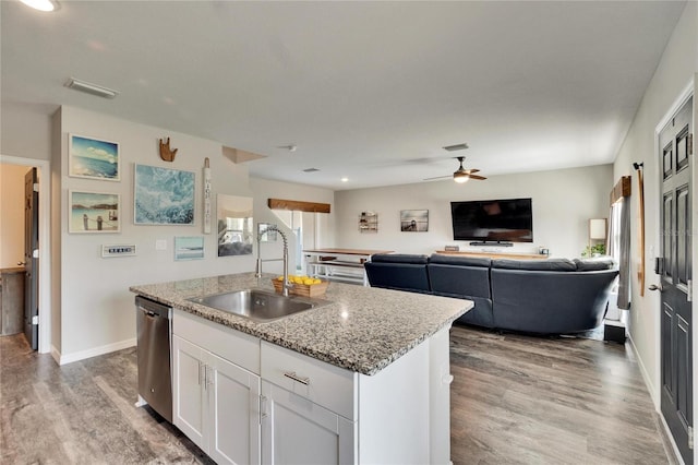
<instances>
[{"instance_id":1,"label":"right-hand door of the white double cabinet below the sink","mask_svg":"<svg viewBox=\"0 0 698 465\"><path fill-rule=\"evenodd\" d=\"M206 370L208 455L218 464L258 464L260 377L213 354Z\"/></svg>"}]
</instances>

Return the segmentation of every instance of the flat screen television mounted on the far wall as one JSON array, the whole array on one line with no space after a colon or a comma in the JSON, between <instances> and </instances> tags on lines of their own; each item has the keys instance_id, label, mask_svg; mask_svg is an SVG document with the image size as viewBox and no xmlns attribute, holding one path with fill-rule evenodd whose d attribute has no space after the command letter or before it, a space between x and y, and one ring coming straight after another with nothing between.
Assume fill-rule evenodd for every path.
<instances>
[{"instance_id":1,"label":"flat screen television mounted on the far wall","mask_svg":"<svg viewBox=\"0 0 698 465\"><path fill-rule=\"evenodd\" d=\"M533 242L531 199L450 202L454 240Z\"/></svg>"}]
</instances>

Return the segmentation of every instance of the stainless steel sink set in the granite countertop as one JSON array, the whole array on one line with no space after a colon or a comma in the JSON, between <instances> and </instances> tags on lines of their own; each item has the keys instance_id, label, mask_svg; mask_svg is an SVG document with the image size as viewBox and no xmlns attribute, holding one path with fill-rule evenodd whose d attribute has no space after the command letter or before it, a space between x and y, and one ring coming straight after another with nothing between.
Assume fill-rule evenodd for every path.
<instances>
[{"instance_id":1,"label":"stainless steel sink set in the granite countertop","mask_svg":"<svg viewBox=\"0 0 698 465\"><path fill-rule=\"evenodd\" d=\"M329 303L327 300L322 299L284 297L261 289L213 294L210 296L194 297L189 300L217 310L245 317L257 322L278 320L290 314Z\"/></svg>"}]
</instances>

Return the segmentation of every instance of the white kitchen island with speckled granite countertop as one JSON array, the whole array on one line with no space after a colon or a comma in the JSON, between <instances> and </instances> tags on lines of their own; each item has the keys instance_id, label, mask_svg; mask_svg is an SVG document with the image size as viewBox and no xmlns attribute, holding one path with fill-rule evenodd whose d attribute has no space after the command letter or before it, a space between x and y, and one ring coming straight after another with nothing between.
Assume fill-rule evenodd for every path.
<instances>
[{"instance_id":1,"label":"white kitchen island with speckled granite countertop","mask_svg":"<svg viewBox=\"0 0 698 465\"><path fill-rule=\"evenodd\" d=\"M218 463L448 463L448 329L472 302L332 283L257 323L189 300L272 277L131 287L174 308L174 425Z\"/></svg>"}]
</instances>

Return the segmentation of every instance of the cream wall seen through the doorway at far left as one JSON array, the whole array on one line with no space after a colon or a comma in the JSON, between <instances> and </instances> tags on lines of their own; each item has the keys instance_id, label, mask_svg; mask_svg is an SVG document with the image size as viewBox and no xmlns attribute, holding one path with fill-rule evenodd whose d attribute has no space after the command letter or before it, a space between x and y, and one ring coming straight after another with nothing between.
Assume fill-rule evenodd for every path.
<instances>
[{"instance_id":1,"label":"cream wall seen through the doorway at far left","mask_svg":"<svg viewBox=\"0 0 698 465\"><path fill-rule=\"evenodd\" d=\"M24 261L24 175L29 169L0 165L0 269Z\"/></svg>"}]
</instances>

